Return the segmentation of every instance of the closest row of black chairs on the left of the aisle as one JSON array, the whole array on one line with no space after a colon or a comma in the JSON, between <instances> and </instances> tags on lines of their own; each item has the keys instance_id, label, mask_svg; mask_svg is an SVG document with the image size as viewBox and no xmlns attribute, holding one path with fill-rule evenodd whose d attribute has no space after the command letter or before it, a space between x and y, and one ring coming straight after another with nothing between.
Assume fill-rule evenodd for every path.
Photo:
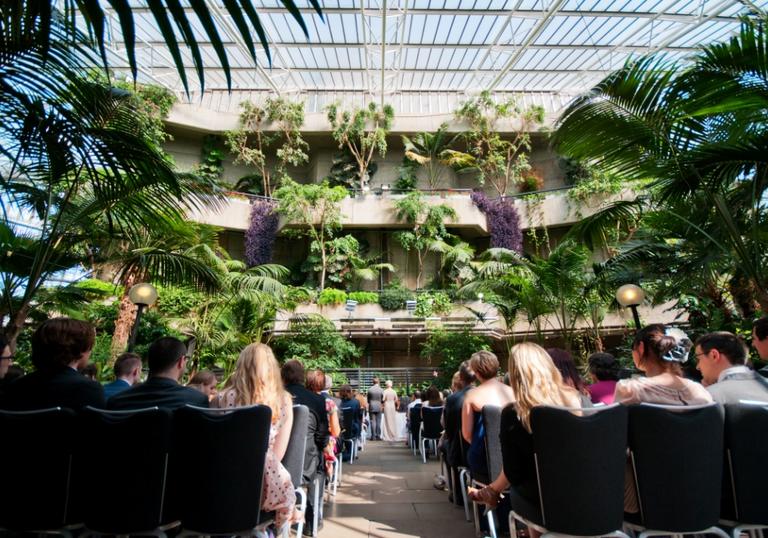
<instances>
[{"instance_id":1,"label":"closest row of black chairs on the left of the aisle","mask_svg":"<svg viewBox=\"0 0 768 538\"><path fill-rule=\"evenodd\" d=\"M259 506L271 415L261 405L0 411L0 529L164 536L180 525L182 535L265 535L273 520ZM308 421L307 408L294 406L283 459L302 510Z\"/></svg>"}]
</instances>

